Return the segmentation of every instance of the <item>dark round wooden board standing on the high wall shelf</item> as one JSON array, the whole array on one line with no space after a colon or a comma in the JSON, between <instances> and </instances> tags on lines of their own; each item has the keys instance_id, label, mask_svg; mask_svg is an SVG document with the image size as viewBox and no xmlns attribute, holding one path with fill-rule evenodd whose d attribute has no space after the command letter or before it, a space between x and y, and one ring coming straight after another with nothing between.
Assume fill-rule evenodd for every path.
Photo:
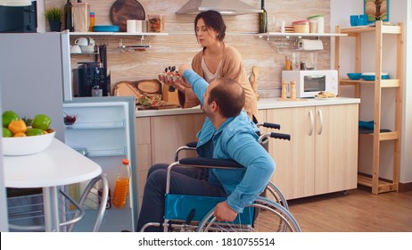
<instances>
[{"instance_id":1,"label":"dark round wooden board standing on the high wall shelf","mask_svg":"<svg viewBox=\"0 0 412 250\"><path fill-rule=\"evenodd\" d=\"M128 20L145 20L146 13L142 4L136 0L117 0L111 5L111 22L119 25L121 32L126 32Z\"/></svg>"}]
</instances>

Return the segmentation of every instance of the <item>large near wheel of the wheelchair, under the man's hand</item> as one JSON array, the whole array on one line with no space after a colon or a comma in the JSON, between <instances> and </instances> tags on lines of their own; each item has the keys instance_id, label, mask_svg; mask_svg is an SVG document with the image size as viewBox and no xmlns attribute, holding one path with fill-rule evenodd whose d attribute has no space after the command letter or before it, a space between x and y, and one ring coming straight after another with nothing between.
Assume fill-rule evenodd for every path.
<instances>
[{"instance_id":1,"label":"large near wheel of the wheelchair, under the man's hand","mask_svg":"<svg viewBox=\"0 0 412 250\"><path fill-rule=\"evenodd\" d=\"M298 222L293 215L268 198L258 197L253 204L251 223L243 223L243 219L235 222L216 221L212 209L199 223L197 231L200 232L301 232ZM246 210L246 208L245 208ZM244 212L243 212L244 213ZM242 216L238 216L238 218ZM242 222L243 221L243 222Z\"/></svg>"}]
</instances>

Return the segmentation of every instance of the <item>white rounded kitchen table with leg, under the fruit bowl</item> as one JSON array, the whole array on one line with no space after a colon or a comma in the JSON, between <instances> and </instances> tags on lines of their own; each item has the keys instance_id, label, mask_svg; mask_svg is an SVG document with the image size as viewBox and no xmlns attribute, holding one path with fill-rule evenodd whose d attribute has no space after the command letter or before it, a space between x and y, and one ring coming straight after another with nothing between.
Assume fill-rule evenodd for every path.
<instances>
[{"instance_id":1,"label":"white rounded kitchen table with leg, under the fruit bowl","mask_svg":"<svg viewBox=\"0 0 412 250\"><path fill-rule=\"evenodd\" d=\"M4 186L42 187L45 231L59 231L59 186L94 179L102 168L70 146L54 138L45 151L4 156Z\"/></svg>"}]
</instances>

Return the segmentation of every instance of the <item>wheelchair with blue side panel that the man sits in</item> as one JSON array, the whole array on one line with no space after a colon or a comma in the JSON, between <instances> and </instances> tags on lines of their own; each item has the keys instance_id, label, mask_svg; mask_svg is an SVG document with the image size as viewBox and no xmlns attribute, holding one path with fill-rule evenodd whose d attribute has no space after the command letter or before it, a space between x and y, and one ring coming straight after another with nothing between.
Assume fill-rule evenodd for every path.
<instances>
[{"instance_id":1,"label":"wheelchair with blue side panel that the man sits in","mask_svg":"<svg viewBox=\"0 0 412 250\"><path fill-rule=\"evenodd\" d=\"M278 124L257 123L258 127L280 129ZM269 138L290 140L290 136L275 132L260 134L259 142L268 150ZM216 204L225 201L226 197L185 196L169 193L170 172L178 167L187 168L220 168L244 169L242 165L231 160L210 159L202 157L187 157L179 159L178 154L184 150L195 150L196 143L181 146L175 153L175 162L169 164L166 194L165 214L163 223L146 223L141 231L149 227L162 227L168 231L198 231L198 232L301 232L298 222L294 219L286 199L275 184L268 182L254 203L238 213L235 221L216 221L213 213Z\"/></svg>"}]
</instances>

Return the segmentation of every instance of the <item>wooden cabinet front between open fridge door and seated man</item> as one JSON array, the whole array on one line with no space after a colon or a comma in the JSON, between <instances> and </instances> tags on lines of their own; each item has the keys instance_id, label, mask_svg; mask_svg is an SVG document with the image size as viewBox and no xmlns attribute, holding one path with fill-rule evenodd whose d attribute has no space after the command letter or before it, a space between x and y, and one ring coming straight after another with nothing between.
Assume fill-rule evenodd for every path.
<instances>
[{"instance_id":1,"label":"wooden cabinet front between open fridge door and seated man","mask_svg":"<svg viewBox=\"0 0 412 250\"><path fill-rule=\"evenodd\" d=\"M141 202L147 171L155 163L171 163L179 146L196 141L197 132L202 129L205 115L180 114L136 118L137 171L139 177L139 200ZM194 156L185 152L181 157Z\"/></svg>"}]
</instances>

